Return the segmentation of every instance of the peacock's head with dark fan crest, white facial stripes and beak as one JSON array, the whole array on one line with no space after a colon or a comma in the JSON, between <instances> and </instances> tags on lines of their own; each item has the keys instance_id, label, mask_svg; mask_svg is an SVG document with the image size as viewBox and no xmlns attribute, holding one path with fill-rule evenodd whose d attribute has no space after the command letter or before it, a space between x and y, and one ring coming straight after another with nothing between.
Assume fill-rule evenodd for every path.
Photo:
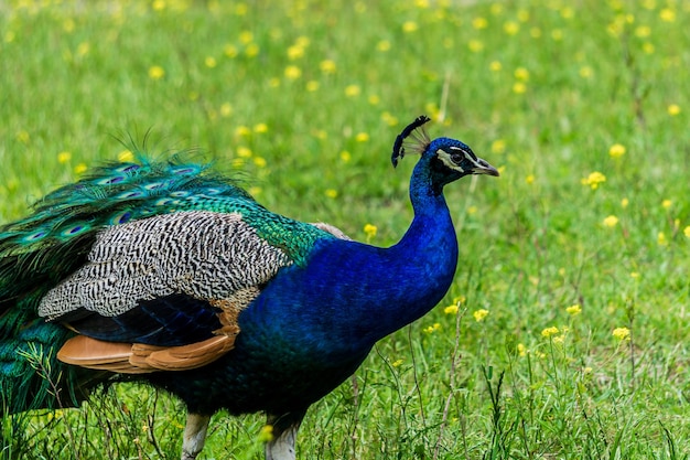
<instances>
[{"instance_id":1,"label":"peacock's head with dark fan crest, white facial stripes and beak","mask_svg":"<svg viewBox=\"0 0 690 460\"><path fill-rule=\"evenodd\" d=\"M443 185L472 174L498 175L498 170L486 160L477 158L472 149L455 139L438 138L431 140L422 126L430 119L422 115L408 125L396 138L391 161L393 167L407 151L419 153L428 164L433 183Z\"/></svg>"}]
</instances>

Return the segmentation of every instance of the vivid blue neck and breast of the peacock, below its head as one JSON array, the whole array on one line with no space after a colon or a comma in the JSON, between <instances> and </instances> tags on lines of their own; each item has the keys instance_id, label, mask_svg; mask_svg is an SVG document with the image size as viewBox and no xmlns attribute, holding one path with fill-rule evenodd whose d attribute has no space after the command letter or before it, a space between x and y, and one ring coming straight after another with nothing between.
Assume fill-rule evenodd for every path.
<instances>
[{"instance_id":1,"label":"vivid blue neck and breast of the peacock, below its head","mask_svg":"<svg viewBox=\"0 0 690 460\"><path fill-rule=\"evenodd\" d=\"M305 266L282 270L267 286L240 329L280 341L283 353L312 350L312 359L333 363L364 359L376 341L441 301L455 274L457 239L423 161L410 184L414 220L398 244L319 242Z\"/></svg>"}]
</instances>

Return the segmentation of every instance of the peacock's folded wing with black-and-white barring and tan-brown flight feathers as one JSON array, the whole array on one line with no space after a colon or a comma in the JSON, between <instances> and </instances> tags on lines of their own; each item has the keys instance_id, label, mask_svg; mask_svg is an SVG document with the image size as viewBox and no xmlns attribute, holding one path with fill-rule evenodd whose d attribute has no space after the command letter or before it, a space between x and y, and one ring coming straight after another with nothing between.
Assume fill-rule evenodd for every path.
<instances>
[{"instance_id":1,"label":"peacock's folded wing with black-and-white barring and tan-brown flight feathers","mask_svg":"<svg viewBox=\"0 0 690 460\"><path fill-rule=\"evenodd\" d=\"M291 264L239 212L158 215L101 231L87 263L43 297L39 314L79 334L58 353L69 364L200 367L233 349L239 312Z\"/></svg>"}]
</instances>

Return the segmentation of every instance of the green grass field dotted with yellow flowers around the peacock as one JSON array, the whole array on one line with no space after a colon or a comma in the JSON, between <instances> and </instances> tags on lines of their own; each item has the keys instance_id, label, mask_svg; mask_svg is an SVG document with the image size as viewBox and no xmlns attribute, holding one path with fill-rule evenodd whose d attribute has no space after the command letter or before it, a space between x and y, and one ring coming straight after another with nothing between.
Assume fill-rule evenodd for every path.
<instances>
[{"instance_id":1,"label":"green grass field dotted with yellow flowers around the peacock","mask_svg":"<svg viewBox=\"0 0 690 460\"><path fill-rule=\"evenodd\" d=\"M130 137L382 246L411 220L414 159L389 157L416 116L500 167L446 188L455 284L312 407L299 458L690 458L690 1L0 12L2 222ZM26 417L0 458L174 459L184 410L120 385ZM262 458L262 421L217 414L201 458Z\"/></svg>"}]
</instances>

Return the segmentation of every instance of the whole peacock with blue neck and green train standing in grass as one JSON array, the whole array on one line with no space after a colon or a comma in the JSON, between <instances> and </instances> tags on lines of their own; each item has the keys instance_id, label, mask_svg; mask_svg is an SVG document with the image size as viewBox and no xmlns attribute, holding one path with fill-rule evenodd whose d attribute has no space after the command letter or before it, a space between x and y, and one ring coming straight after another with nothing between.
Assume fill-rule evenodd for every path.
<instances>
[{"instance_id":1,"label":"whole peacock with blue neck and green train standing in grass","mask_svg":"<svg viewBox=\"0 0 690 460\"><path fill-rule=\"evenodd\" d=\"M310 405L449 290L459 247L444 185L498 175L465 143L431 140L427 121L393 143L393 167L420 158L413 221L387 248L274 214L175 156L107 163L47 194L0 228L3 414L78 406L125 376L184 402L183 460L219 409L265 413L266 458L294 459Z\"/></svg>"}]
</instances>

